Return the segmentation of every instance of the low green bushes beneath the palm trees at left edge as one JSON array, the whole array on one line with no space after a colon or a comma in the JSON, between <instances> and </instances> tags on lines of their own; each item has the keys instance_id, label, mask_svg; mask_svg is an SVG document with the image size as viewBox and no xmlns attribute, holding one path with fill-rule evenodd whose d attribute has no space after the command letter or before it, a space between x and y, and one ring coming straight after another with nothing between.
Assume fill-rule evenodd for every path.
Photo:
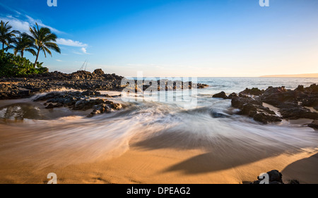
<instances>
[{"instance_id":1,"label":"low green bushes beneath the palm trees at left edge","mask_svg":"<svg viewBox=\"0 0 318 198\"><path fill-rule=\"evenodd\" d=\"M46 73L47 68L42 63L37 63L37 68L27 58L14 56L0 50L0 76L2 77L25 77L30 74Z\"/></svg>"}]
</instances>

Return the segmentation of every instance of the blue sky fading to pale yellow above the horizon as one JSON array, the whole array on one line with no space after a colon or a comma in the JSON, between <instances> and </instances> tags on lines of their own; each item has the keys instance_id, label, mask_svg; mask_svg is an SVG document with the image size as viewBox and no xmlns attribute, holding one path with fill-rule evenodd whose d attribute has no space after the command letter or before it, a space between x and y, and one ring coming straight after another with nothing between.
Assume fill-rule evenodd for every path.
<instances>
[{"instance_id":1,"label":"blue sky fading to pale yellow above the horizon","mask_svg":"<svg viewBox=\"0 0 318 198\"><path fill-rule=\"evenodd\" d=\"M59 37L49 70L136 76L254 77L318 73L318 1L1 0L0 19ZM26 53L31 61L35 57Z\"/></svg>"}]
</instances>

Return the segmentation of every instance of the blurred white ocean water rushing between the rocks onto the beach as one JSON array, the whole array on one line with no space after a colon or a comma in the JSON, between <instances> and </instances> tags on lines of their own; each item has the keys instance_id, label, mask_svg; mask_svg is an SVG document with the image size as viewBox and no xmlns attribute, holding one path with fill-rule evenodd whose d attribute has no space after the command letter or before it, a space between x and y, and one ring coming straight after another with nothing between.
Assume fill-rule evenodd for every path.
<instances>
[{"instance_id":1,"label":"blurred white ocean water rushing between the rocks onto the beach","mask_svg":"<svg viewBox=\"0 0 318 198\"><path fill-rule=\"evenodd\" d=\"M140 95L127 97L131 101L114 97L114 101L126 107L93 118L86 118L89 113L86 111L47 110L33 102L38 95L0 101L0 137L6 138L0 138L0 155L10 154L9 157L32 161L38 166L66 166L109 159L131 147L202 149L218 154L230 166L234 159L248 163L281 153L318 149L318 132L303 125L312 120L262 125L237 115L230 100L212 98L220 91L230 94L246 87L294 89L318 83L317 78L199 78L198 82L210 87L198 89L191 96L195 105L185 107L187 101L177 101L183 97L180 91L170 92L173 101L146 101Z\"/></svg>"}]
</instances>

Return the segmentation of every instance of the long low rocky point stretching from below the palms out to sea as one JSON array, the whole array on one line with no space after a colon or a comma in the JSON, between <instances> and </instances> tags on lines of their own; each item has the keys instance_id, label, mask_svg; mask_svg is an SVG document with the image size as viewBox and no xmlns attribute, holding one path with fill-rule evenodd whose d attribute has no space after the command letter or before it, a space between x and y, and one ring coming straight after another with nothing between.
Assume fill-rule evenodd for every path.
<instances>
[{"instance_id":1,"label":"long low rocky point stretching from below the palms out to sea","mask_svg":"<svg viewBox=\"0 0 318 198\"><path fill-rule=\"evenodd\" d=\"M121 92L127 85L122 85L124 77L116 74L105 74L101 69L94 70L90 73L85 70L78 70L77 72L66 74L60 72L43 73L39 75L30 75L28 78L0 78L0 99L18 99L23 97L30 97L38 92L49 92L52 89L80 89L92 91L119 91ZM208 85L192 82L180 82L182 87L177 86L177 82L170 80L163 80L165 87L160 87L158 81L158 89L172 90L172 89L192 89L192 86L201 89L208 87ZM137 82L137 81L135 81ZM135 92L142 91L136 86ZM187 87L184 87L187 85ZM150 85L143 85L142 89L146 90Z\"/></svg>"}]
</instances>

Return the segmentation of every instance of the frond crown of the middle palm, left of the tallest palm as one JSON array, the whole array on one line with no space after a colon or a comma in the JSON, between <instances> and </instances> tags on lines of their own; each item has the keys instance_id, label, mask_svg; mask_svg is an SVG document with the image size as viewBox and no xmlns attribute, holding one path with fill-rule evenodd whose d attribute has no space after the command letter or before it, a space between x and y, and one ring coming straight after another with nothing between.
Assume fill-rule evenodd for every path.
<instances>
[{"instance_id":1,"label":"frond crown of the middle palm, left of the tallest palm","mask_svg":"<svg viewBox=\"0 0 318 198\"><path fill-rule=\"evenodd\" d=\"M18 54L20 52L21 57L23 58L23 52L28 51L33 56L36 56L37 53L33 48L35 48L35 44L33 43L32 38L27 33L22 33L19 35L19 37L16 37L13 39L13 44L16 46L13 47L14 55ZM11 47L10 47L11 48Z\"/></svg>"}]
</instances>

